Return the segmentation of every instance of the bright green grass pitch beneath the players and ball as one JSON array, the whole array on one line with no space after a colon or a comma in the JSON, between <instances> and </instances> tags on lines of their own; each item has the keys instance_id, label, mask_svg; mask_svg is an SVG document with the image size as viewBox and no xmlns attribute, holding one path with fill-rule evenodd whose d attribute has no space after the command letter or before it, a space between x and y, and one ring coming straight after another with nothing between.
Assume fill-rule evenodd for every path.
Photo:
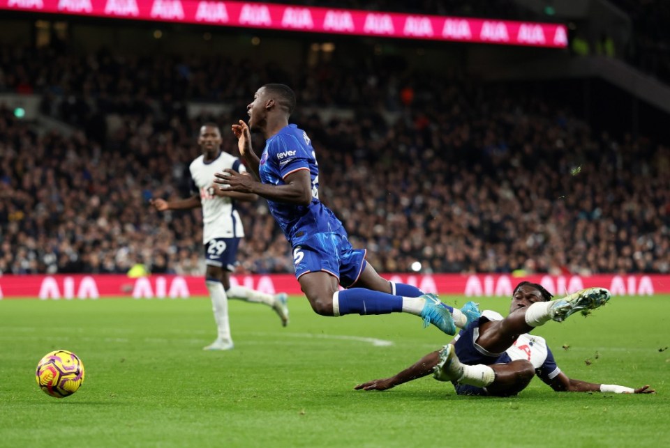
<instances>
[{"instance_id":1,"label":"bright green grass pitch beneath the players and ball","mask_svg":"<svg viewBox=\"0 0 670 448\"><path fill-rule=\"evenodd\" d=\"M387 392L355 391L449 339L422 329L415 316L325 318L305 298L289 304L291 323L283 328L269 308L232 301L234 350L205 352L214 339L207 298L1 300L0 446L670 443L668 296L613 298L592 316L536 331L569 377L650 384L657 394L556 393L536 378L510 399L456 396L430 377ZM505 313L509 300L480 304ZM66 399L47 396L35 381L38 360L57 348L75 352L86 367L84 385Z\"/></svg>"}]
</instances>

